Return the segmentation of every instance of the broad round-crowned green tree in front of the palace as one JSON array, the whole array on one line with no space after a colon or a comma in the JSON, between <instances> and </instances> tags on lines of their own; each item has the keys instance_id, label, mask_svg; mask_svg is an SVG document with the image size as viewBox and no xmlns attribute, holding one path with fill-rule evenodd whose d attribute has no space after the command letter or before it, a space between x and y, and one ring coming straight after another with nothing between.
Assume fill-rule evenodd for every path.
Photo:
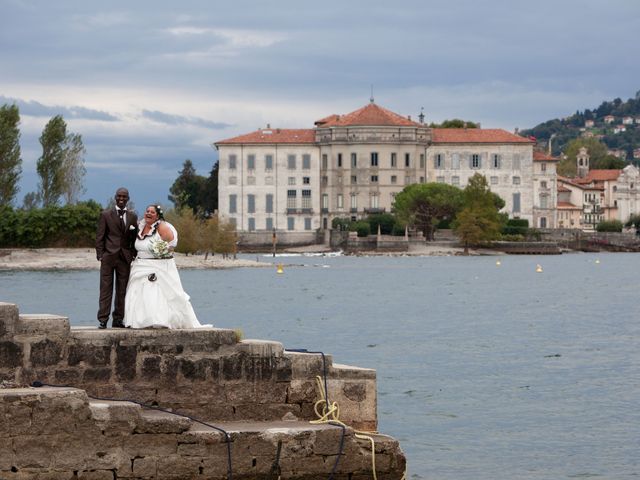
<instances>
[{"instance_id":1,"label":"broad round-crowned green tree in front of the palace","mask_svg":"<svg viewBox=\"0 0 640 480\"><path fill-rule=\"evenodd\" d=\"M445 183L414 183L402 190L393 204L398 218L433 240L435 226L453 218L462 206L462 191Z\"/></svg>"}]
</instances>

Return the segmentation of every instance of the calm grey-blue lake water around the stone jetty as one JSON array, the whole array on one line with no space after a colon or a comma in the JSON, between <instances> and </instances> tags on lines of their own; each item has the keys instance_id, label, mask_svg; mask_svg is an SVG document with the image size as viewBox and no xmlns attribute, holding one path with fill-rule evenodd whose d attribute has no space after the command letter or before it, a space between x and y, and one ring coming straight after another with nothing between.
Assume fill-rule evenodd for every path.
<instances>
[{"instance_id":1,"label":"calm grey-blue lake water around the stone jetty","mask_svg":"<svg viewBox=\"0 0 640 480\"><path fill-rule=\"evenodd\" d=\"M640 255L278 261L298 266L181 274L203 323L377 369L409 478L640 477ZM97 288L0 272L0 300L73 325Z\"/></svg>"}]
</instances>

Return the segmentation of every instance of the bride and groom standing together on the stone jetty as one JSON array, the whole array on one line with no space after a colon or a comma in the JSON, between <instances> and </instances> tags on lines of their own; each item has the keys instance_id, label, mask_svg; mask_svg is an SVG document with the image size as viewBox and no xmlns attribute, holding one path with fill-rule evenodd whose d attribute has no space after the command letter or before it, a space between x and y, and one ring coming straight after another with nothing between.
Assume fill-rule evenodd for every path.
<instances>
[{"instance_id":1,"label":"bride and groom standing together on the stone jetty","mask_svg":"<svg viewBox=\"0 0 640 480\"><path fill-rule=\"evenodd\" d=\"M128 202L129 191L119 188L115 206L104 210L98 222L98 328L107 328L114 283L113 328L202 327L173 260L178 232L164 220L160 205L149 205L138 222Z\"/></svg>"}]
</instances>

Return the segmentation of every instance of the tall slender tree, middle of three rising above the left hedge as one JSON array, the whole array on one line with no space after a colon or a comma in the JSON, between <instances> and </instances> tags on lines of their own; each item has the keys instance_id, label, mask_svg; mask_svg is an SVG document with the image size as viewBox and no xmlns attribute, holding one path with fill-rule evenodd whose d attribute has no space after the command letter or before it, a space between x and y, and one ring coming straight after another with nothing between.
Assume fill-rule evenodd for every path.
<instances>
[{"instance_id":1,"label":"tall slender tree, middle of three rising above the left hedge","mask_svg":"<svg viewBox=\"0 0 640 480\"><path fill-rule=\"evenodd\" d=\"M40 136L42 156L38 159L40 176L38 194L43 207L55 205L64 192L63 164L67 124L62 115L56 115L47 123Z\"/></svg>"}]
</instances>

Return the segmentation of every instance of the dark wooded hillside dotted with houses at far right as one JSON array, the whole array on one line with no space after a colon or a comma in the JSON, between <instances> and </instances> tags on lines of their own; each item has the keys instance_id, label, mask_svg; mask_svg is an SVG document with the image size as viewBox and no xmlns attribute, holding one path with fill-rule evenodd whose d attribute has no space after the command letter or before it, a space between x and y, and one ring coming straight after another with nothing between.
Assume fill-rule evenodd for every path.
<instances>
[{"instance_id":1,"label":"dark wooded hillside dotted with houses at far right","mask_svg":"<svg viewBox=\"0 0 640 480\"><path fill-rule=\"evenodd\" d=\"M559 155L566 145L578 137L593 137L604 143L617 157L640 163L640 90L635 98L604 101L594 109L577 111L561 119L548 120L521 132L536 138L538 145L548 147L553 136L552 153ZM636 156L634 158L634 150Z\"/></svg>"}]
</instances>

